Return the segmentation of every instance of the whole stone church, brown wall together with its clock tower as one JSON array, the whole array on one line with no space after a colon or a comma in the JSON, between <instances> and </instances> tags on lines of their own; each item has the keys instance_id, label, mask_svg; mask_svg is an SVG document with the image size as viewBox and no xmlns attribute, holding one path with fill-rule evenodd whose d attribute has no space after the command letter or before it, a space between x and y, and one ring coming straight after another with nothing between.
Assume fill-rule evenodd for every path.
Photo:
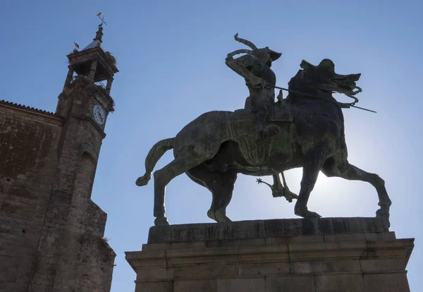
<instances>
[{"instance_id":1,"label":"whole stone church, brown wall together with its clock tower","mask_svg":"<svg viewBox=\"0 0 423 292\"><path fill-rule=\"evenodd\" d=\"M55 113L0 101L0 291L110 291L116 254L91 200L118 72L102 37L68 54Z\"/></svg>"}]
</instances>

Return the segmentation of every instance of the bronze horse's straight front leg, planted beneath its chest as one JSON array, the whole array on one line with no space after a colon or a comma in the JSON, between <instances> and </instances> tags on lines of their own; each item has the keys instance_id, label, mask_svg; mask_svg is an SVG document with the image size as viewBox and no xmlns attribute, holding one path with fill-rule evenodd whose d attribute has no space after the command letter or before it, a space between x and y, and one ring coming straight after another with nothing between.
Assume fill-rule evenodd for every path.
<instances>
[{"instance_id":1,"label":"bronze horse's straight front leg, planted beneath its chest","mask_svg":"<svg viewBox=\"0 0 423 292\"><path fill-rule=\"evenodd\" d=\"M321 166L327 157L327 151L323 148L317 148L314 152L309 153L305 157L305 164L302 167L302 180L298 200L295 203L294 213L303 218L319 218L321 217L316 212L311 212L307 208L310 193L319 176Z\"/></svg>"}]
</instances>

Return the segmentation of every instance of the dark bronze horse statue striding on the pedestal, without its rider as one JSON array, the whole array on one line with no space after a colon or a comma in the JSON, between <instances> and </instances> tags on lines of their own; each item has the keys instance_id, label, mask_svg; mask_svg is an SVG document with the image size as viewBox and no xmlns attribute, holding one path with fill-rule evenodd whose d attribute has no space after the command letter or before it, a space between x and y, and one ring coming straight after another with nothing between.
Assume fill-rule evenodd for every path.
<instances>
[{"instance_id":1,"label":"dark bronze horse statue striding on the pedestal, without its rider","mask_svg":"<svg viewBox=\"0 0 423 292\"><path fill-rule=\"evenodd\" d=\"M264 130L255 131L255 113L209 111L188 123L175 138L156 143L145 160L146 174L137 185L152 178L157 161L173 149L175 159L154 172L154 224L168 224L165 217L166 185L176 176L187 174L192 181L212 192L207 216L218 222L231 221L226 207L231 202L238 174L276 176L288 169L302 167L302 181L295 214L304 218L320 217L307 209L309 195L319 171L326 176L367 181L376 188L380 209L377 217L389 217L389 200L384 180L348 162L344 119L333 92L354 95L360 74L338 75L329 59L318 66L302 61L302 68L288 83L286 102L276 102L278 111L289 109L292 121L266 121ZM293 93L295 92L295 93Z\"/></svg>"}]
</instances>

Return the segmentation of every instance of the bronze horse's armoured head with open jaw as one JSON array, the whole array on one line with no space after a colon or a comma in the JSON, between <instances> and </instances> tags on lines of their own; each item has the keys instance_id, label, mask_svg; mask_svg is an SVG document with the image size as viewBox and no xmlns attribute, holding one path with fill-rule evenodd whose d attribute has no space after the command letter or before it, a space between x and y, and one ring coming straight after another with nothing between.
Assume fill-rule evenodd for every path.
<instances>
[{"instance_id":1,"label":"bronze horse's armoured head with open jaw","mask_svg":"<svg viewBox=\"0 0 423 292\"><path fill-rule=\"evenodd\" d=\"M362 91L355 83L360 79L360 73L337 74L335 64L329 59L322 60L317 66L303 60L300 67L302 70L298 71L288 83L292 90L312 94L322 99L332 99L332 93L343 93L353 97Z\"/></svg>"}]
</instances>

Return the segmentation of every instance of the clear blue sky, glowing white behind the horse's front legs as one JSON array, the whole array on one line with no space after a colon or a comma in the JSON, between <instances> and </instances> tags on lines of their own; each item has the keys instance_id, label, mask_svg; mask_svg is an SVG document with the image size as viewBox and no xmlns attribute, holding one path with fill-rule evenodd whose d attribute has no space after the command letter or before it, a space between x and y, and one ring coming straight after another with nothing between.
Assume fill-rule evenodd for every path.
<instances>
[{"instance_id":1,"label":"clear blue sky, glowing white behind the horse's front legs","mask_svg":"<svg viewBox=\"0 0 423 292\"><path fill-rule=\"evenodd\" d=\"M153 224L153 185L138 188L150 147L171 138L198 115L242 108L244 81L226 67L244 48L235 32L283 53L274 63L278 85L305 59L329 58L338 73L362 73L358 106L347 109L350 162L386 181L391 231L416 238L407 269L412 291L423 285L421 1L1 1L0 99L54 111L73 42L92 41L104 13L104 48L118 59L92 199L109 214L106 237L117 253L112 291L133 291L125 251L140 250ZM345 97L341 100L346 100ZM158 164L172 159L171 152ZM298 192L301 170L286 173ZM264 178L271 181L271 178ZM210 222L212 196L183 175L168 185L171 224ZM324 217L372 217L371 185L319 176L309 201ZM420 214L419 214L420 212ZM271 197L255 177L240 175L228 207L233 220L292 218L293 204Z\"/></svg>"}]
</instances>

